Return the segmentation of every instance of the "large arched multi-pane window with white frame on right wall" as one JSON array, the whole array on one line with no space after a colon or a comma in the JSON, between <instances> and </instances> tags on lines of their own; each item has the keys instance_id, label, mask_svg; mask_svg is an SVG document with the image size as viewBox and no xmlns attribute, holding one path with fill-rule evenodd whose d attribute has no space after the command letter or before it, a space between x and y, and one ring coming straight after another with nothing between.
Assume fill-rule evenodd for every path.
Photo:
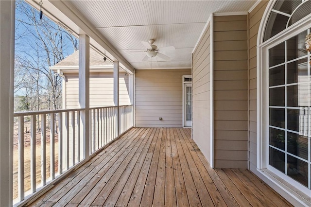
<instances>
[{"instance_id":1,"label":"large arched multi-pane window with white frame on right wall","mask_svg":"<svg viewBox=\"0 0 311 207\"><path fill-rule=\"evenodd\" d=\"M311 0L270 2L269 12L259 34L259 168L311 195L311 69L306 50Z\"/></svg>"}]
</instances>

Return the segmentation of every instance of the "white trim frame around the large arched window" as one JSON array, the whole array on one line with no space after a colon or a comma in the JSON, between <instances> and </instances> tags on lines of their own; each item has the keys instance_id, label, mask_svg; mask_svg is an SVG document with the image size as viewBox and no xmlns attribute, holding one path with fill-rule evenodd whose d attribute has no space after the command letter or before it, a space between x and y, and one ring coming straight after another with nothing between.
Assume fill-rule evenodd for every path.
<instances>
[{"instance_id":1,"label":"white trim frame around the large arched window","mask_svg":"<svg viewBox=\"0 0 311 207\"><path fill-rule=\"evenodd\" d=\"M282 178L282 173L275 174L267 169L267 165L269 164L267 161L269 158L269 152L267 147L269 145L269 142L267 140L267 123L269 123L269 117L267 115L269 110L269 93L267 92L267 88L269 88L269 74L267 71L264 70L268 67L268 50L276 46L277 44L287 40L288 34L298 35L302 31L305 31L306 28L311 28L310 14L264 42L263 37L265 27L267 25L269 15L272 12L275 3L275 0L268 2L268 5L259 25L259 33L257 37L257 169L251 170L258 171L276 187L282 186L282 190L285 193L292 195L292 198L289 199L292 200L294 203L308 206L311 203L311 190L308 190L308 192L306 192L305 190L301 190L301 188L298 188L298 191L295 191L293 189L293 186L295 186L294 184L292 184L293 182L289 181L292 186L288 186L282 183L277 178ZM305 193L307 193L309 197L305 197Z\"/></svg>"}]
</instances>

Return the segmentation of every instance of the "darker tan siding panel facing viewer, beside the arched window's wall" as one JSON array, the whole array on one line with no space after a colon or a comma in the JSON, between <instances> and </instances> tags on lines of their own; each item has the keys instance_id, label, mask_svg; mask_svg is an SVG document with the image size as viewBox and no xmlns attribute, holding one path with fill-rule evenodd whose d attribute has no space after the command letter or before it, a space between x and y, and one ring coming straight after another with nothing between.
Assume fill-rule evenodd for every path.
<instances>
[{"instance_id":1,"label":"darker tan siding panel facing viewer, beside the arched window's wall","mask_svg":"<svg viewBox=\"0 0 311 207\"><path fill-rule=\"evenodd\" d=\"M247 168L247 16L215 17L214 45L214 167Z\"/></svg>"}]
</instances>

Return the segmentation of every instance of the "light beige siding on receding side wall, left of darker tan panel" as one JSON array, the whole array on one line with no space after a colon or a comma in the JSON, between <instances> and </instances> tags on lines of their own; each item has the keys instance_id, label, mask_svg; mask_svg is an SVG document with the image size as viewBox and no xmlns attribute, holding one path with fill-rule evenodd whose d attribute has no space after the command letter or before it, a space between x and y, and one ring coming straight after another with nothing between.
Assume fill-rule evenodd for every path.
<instances>
[{"instance_id":1,"label":"light beige siding on receding side wall, left of darker tan panel","mask_svg":"<svg viewBox=\"0 0 311 207\"><path fill-rule=\"evenodd\" d=\"M192 55L192 138L210 162L210 24Z\"/></svg>"}]
</instances>

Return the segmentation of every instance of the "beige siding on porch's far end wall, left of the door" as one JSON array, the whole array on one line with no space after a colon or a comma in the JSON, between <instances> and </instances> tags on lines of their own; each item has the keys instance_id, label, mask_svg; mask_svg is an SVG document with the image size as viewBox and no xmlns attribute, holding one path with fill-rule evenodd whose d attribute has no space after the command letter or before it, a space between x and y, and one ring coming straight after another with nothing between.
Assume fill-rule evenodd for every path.
<instances>
[{"instance_id":1,"label":"beige siding on porch's far end wall, left of the door","mask_svg":"<svg viewBox=\"0 0 311 207\"><path fill-rule=\"evenodd\" d=\"M182 76L190 74L190 69L136 70L136 126L182 127Z\"/></svg>"}]
</instances>

